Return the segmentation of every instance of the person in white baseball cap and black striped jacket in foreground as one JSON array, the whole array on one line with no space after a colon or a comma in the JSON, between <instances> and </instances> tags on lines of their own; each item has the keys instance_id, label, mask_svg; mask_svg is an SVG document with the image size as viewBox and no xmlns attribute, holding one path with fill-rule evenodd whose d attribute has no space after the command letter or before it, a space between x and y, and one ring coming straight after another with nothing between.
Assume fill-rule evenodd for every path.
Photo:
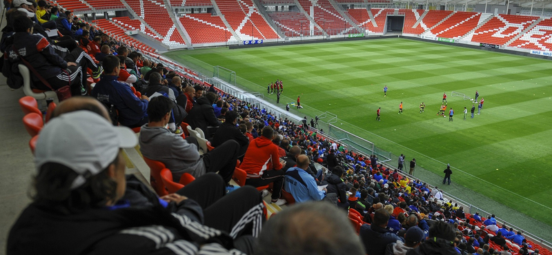
<instances>
[{"instance_id":1,"label":"person in white baseball cap and black striped jacket in foreground","mask_svg":"<svg viewBox=\"0 0 552 255\"><path fill-rule=\"evenodd\" d=\"M121 149L137 145L132 130L80 110L56 116L39 135L33 202L12 226L6 254L229 254L251 241L251 236L233 238L250 223L240 217L241 228L230 236L202 225L201 209L197 218L181 214L183 196L161 201L147 188L133 194L148 197L128 196L131 183ZM250 214L258 210L244 217L262 221Z\"/></svg>"}]
</instances>

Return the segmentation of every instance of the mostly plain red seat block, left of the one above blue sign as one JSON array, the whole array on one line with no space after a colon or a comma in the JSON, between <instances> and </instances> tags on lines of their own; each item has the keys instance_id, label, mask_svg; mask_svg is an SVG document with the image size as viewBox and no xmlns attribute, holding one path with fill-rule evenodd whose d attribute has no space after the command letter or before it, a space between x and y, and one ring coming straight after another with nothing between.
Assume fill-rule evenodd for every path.
<instances>
[{"instance_id":1,"label":"mostly plain red seat block, left of the one above blue sign","mask_svg":"<svg viewBox=\"0 0 552 255\"><path fill-rule=\"evenodd\" d=\"M186 28L193 44L224 43L233 39L222 19L210 13L184 14L179 21Z\"/></svg>"}]
</instances>

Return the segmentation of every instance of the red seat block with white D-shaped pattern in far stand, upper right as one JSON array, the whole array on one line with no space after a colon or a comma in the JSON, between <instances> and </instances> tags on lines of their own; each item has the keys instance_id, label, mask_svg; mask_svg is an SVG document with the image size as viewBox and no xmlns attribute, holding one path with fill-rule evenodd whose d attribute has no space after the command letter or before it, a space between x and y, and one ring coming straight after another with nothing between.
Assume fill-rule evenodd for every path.
<instances>
[{"instance_id":1,"label":"red seat block with white D-shaped pattern in far stand, upper right","mask_svg":"<svg viewBox=\"0 0 552 255\"><path fill-rule=\"evenodd\" d=\"M499 14L475 30L471 41L504 45L526 28L538 17Z\"/></svg>"}]
</instances>

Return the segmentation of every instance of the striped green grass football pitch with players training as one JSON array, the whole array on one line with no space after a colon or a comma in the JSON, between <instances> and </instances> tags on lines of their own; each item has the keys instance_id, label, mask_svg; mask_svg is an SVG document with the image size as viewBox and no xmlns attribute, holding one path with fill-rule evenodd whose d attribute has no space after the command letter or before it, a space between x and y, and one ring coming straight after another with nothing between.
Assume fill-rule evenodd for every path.
<instances>
[{"instance_id":1,"label":"striped green grass football pitch with players training","mask_svg":"<svg viewBox=\"0 0 552 255\"><path fill-rule=\"evenodd\" d=\"M188 50L167 56L188 65L234 70L258 84L248 83L250 91L266 94L270 81L282 79L284 105L301 95L305 114L337 114L339 128L395 155L404 153L408 161L415 157L418 165L440 176L451 163L454 183L552 225L551 61L408 39ZM471 103L452 97L451 91L473 97L475 90L485 99L482 114L464 121L462 111ZM443 92L455 110L453 122L435 115ZM275 95L265 99L275 100ZM404 114L397 114L401 101ZM426 111L420 114L422 101ZM379 107L380 122L375 121Z\"/></svg>"}]
</instances>

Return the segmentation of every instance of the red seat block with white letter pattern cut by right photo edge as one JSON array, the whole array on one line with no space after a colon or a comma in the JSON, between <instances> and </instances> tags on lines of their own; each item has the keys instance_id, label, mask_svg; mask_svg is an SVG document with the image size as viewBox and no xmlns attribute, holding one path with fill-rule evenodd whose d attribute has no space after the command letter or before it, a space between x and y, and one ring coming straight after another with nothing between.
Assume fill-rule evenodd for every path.
<instances>
[{"instance_id":1,"label":"red seat block with white letter pattern cut by right photo edge","mask_svg":"<svg viewBox=\"0 0 552 255\"><path fill-rule=\"evenodd\" d=\"M552 51L552 18L540 21L529 32L524 33L520 38L510 43L509 46L530 50Z\"/></svg>"}]
</instances>

